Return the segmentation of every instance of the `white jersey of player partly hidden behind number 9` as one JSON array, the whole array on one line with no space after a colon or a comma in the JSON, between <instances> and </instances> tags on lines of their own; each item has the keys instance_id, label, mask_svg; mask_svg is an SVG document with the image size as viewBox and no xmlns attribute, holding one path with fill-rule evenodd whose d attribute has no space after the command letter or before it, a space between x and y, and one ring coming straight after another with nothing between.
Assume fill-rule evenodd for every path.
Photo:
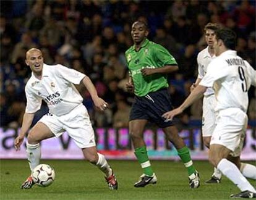
<instances>
[{"instance_id":1,"label":"white jersey of player partly hidden behind number 9","mask_svg":"<svg viewBox=\"0 0 256 200\"><path fill-rule=\"evenodd\" d=\"M200 51L197 55L197 64L198 64L198 76L197 78L203 79L205 74L207 73L208 65L210 64L211 60L215 59L215 55L211 57L211 55L208 52L208 46L207 48ZM211 94L214 94L213 88L207 88L207 91L205 91L204 95L209 96Z\"/></svg>"}]
</instances>

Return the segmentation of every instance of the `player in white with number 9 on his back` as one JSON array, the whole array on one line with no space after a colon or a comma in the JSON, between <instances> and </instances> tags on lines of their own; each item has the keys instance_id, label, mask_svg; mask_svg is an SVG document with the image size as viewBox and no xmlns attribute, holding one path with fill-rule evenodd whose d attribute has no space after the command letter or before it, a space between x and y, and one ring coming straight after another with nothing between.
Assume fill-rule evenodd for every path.
<instances>
[{"instance_id":1,"label":"player in white with number 9 on his back","mask_svg":"<svg viewBox=\"0 0 256 200\"><path fill-rule=\"evenodd\" d=\"M227 158L236 153L237 164L242 151L242 141L247 128L248 90L256 86L256 71L249 63L237 56L235 48L236 34L228 29L215 30L213 48L216 58L208 65L208 70L199 85L177 109L163 114L166 119L173 119L181 114L192 102L203 96L209 87L213 87L216 98L216 127L210 141L209 160L241 190L231 198L256 198L256 190L244 177L233 162ZM252 165L252 167L254 167ZM255 174L255 167L247 175ZM253 178L253 177L252 177ZM254 177L255 178L255 177Z\"/></svg>"}]
</instances>

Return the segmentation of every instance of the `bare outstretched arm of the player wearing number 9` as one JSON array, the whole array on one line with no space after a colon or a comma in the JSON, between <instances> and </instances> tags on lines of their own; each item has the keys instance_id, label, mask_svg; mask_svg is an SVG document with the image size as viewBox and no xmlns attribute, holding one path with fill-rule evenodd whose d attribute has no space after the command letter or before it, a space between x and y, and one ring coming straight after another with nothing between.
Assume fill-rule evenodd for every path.
<instances>
[{"instance_id":1,"label":"bare outstretched arm of the player wearing number 9","mask_svg":"<svg viewBox=\"0 0 256 200\"><path fill-rule=\"evenodd\" d=\"M198 85L192 93L189 94L187 99L181 104L181 106L177 107L177 109L171 110L163 114L163 117L168 120L172 120L174 116L181 114L187 107L189 107L193 102L197 99L202 98L203 93L207 90L207 87Z\"/></svg>"}]
</instances>

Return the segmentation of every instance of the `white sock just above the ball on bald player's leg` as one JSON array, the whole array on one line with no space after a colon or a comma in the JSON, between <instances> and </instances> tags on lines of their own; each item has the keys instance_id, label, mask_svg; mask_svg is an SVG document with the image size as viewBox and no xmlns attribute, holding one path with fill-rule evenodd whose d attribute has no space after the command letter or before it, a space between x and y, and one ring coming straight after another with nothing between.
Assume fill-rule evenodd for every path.
<instances>
[{"instance_id":1,"label":"white sock just above the ball on bald player's leg","mask_svg":"<svg viewBox=\"0 0 256 200\"><path fill-rule=\"evenodd\" d=\"M41 158L40 144L28 144L27 142L27 158L31 172L39 165Z\"/></svg>"}]
</instances>

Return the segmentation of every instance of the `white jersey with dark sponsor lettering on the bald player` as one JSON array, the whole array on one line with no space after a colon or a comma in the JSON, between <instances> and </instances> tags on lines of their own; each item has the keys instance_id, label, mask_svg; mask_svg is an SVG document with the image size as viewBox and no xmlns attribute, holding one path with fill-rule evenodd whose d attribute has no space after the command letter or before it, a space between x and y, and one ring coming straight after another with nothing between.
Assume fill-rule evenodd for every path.
<instances>
[{"instance_id":1,"label":"white jersey with dark sponsor lettering on the bald player","mask_svg":"<svg viewBox=\"0 0 256 200\"><path fill-rule=\"evenodd\" d=\"M34 113L41 107L43 99L51 114L61 116L69 113L82 103L83 98L74 84L79 84L85 77L83 73L63 65L43 64L42 78L39 80L33 73L25 86L27 113Z\"/></svg>"}]
</instances>

